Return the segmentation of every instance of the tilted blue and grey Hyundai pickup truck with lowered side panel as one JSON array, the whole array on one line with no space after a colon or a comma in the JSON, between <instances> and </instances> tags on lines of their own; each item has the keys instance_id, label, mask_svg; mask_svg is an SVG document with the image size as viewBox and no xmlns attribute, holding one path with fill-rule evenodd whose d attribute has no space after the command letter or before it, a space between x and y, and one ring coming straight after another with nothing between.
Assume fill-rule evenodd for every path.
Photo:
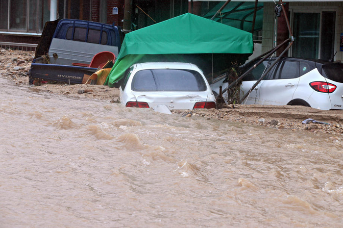
<instances>
[{"instance_id":1,"label":"tilted blue and grey Hyundai pickup truck with lowered side panel","mask_svg":"<svg viewBox=\"0 0 343 228\"><path fill-rule=\"evenodd\" d=\"M47 22L31 64L30 83L35 78L84 83L97 70L87 67L93 56L101 51L117 56L122 41L123 32L115 25L73 19Z\"/></svg>"}]
</instances>

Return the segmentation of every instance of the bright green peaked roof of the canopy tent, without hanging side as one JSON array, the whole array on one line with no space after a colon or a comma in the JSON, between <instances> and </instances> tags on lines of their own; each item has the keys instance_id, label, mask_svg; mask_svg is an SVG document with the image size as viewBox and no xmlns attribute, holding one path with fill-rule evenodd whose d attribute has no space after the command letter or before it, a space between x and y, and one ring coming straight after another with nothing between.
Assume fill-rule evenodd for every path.
<instances>
[{"instance_id":1,"label":"bright green peaked roof of the canopy tent, without hanging side","mask_svg":"<svg viewBox=\"0 0 343 228\"><path fill-rule=\"evenodd\" d=\"M128 54L252 53L252 34L186 13L125 35Z\"/></svg>"}]
</instances>

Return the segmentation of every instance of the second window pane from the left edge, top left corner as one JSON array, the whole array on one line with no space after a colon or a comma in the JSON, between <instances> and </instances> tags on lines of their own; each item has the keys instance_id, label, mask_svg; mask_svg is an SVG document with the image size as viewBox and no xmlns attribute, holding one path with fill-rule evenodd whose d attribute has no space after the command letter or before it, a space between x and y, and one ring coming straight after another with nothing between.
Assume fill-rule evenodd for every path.
<instances>
[{"instance_id":1,"label":"second window pane from the left edge, top left corner","mask_svg":"<svg viewBox=\"0 0 343 228\"><path fill-rule=\"evenodd\" d=\"M10 29L26 30L26 2L27 0L16 0L10 2Z\"/></svg>"}]
</instances>

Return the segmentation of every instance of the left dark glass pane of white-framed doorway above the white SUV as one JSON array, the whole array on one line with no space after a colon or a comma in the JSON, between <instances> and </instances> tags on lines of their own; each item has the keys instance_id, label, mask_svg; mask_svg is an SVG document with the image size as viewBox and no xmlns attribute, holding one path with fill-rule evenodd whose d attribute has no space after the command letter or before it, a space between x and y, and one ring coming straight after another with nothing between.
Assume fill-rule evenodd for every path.
<instances>
[{"instance_id":1,"label":"left dark glass pane of white-framed doorway above the white SUV","mask_svg":"<svg viewBox=\"0 0 343 228\"><path fill-rule=\"evenodd\" d=\"M294 57L318 58L319 22L320 13L294 13Z\"/></svg>"}]
</instances>

